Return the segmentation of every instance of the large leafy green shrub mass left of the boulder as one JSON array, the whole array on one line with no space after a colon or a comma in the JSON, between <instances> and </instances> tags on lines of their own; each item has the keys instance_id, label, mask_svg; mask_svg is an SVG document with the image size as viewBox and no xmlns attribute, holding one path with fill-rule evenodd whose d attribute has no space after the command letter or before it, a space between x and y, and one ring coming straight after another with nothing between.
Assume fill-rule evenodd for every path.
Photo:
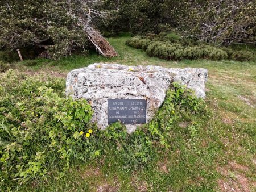
<instances>
[{"instance_id":1,"label":"large leafy green shrub mass left of the boulder","mask_svg":"<svg viewBox=\"0 0 256 192\"><path fill-rule=\"evenodd\" d=\"M13 70L0 77L0 180L46 178L51 167L65 172L75 160L97 152L85 100L64 98L63 82L40 81ZM83 131L84 133L82 133ZM1 182L2 183L2 182Z\"/></svg>"}]
</instances>

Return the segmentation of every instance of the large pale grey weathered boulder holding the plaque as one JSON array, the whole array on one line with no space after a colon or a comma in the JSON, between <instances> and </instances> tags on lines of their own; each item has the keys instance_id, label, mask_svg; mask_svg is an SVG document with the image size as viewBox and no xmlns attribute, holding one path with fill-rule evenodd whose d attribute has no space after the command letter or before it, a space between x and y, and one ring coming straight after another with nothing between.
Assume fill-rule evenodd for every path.
<instances>
[{"instance_id":1,"label":"large pale grey weathered boulder holding the plaque","mask_svg":"<svg viewBox=\"0 0 256 192\"><path fill-rule=\"evenodd\" d=\"M66 94L87 99L94 110L93 122L104 129L108 126L108 99L147 99L146 122L149 122L174 81L195 90L197 97L205 98L207 73L203 68L92 64L68 73ZM129 132L136 126L126 125Z\"/></svg>"}]
</instances>

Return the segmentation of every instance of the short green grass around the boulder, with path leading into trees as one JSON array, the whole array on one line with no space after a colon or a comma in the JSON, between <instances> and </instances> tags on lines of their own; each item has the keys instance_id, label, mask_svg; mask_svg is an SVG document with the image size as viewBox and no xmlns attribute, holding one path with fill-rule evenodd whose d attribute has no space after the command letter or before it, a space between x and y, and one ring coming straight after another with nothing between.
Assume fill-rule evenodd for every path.
<instances>
[{"instance_id":1,"label":"short green grass around the boulder, with path leading into trees","mask_svg":"<svg viewBox=\"0 0 256 192\"><path fill-rule=\"evenodd\" d=\"M24 191L254 191L256 190L256 62L165 61L125 45L127 35L109 38L119 57L105 59L95 52L59 61L38 59L18 63L26 73L65 77L72 69L94 62L159 65L167 68L202 67L209 70L207 107L211 118L184 115L171 130L170 151L139 170L123 169L114 156L74 166L67 177L31 183ZM197 136L184 136L186 123L200 122ZM21 190L21 189L19 189Z\"/></svg>"}]
</instances>

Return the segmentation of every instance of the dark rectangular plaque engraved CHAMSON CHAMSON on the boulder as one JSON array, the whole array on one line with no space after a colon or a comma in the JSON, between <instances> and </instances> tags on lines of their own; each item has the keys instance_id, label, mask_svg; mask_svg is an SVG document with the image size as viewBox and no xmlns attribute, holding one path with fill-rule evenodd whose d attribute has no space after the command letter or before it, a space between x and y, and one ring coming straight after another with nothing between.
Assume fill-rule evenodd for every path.
<instances>
[{"instance_id":1,"label":"dark rectangular plaque engraved CHAMSON CHAMSON on the boulder","mask_svg":"<svg viewBox=\"0 0 256 192\"><path fill-rule=\"evenodd\" d=\"M123 124L143 124L146 112L146 99L108 99L108 124L118 120Z\"/></svg>"}]
</instances>

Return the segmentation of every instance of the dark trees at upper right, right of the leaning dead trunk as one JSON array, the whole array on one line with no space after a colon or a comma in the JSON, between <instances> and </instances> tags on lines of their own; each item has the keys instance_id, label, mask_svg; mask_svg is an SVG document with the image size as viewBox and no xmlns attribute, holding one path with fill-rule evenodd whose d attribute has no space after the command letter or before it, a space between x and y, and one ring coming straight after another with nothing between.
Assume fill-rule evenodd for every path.
<instances>
[{"instance_id":1,"label":"dark trees at upper right, right of the leaning dead trunk","mask_svg":"<svg viewBox=\"0 0 256 192\"><path fill-rule=\"evenodd\" d=\"M215 44L255 43L256 3L235 1L107 0L112 10L104 30L134 34L175 30Z\"/></svg>"}]
</instances>

